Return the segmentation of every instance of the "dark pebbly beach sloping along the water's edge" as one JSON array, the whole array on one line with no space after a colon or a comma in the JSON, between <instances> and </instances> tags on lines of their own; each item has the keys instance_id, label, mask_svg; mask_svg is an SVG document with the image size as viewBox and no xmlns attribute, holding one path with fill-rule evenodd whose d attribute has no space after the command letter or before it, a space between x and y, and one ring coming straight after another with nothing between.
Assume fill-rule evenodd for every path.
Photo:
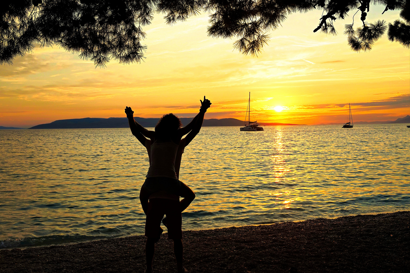
<instances>
[{"instance_id":1,"label":"dark pebbly beach sloping along the water's edge","mask_svg":"<svg viewBox=\"0 0 410 273\"><path fill-rule=\"evenodd\" d=\"M410 212L184 232L189 272L410 272ZM144 272L145 237L4 249L1 272ZM154 272L176 272L172 241Z\"/></svg>"}]
</instances>

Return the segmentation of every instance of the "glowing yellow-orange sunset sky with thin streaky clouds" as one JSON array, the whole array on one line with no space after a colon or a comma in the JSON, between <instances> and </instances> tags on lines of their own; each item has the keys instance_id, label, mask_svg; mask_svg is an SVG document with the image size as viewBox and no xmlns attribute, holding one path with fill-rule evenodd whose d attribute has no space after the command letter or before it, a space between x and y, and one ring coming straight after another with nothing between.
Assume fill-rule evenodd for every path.
<instances>
[{"instance_id":1,"label":"glowing yellow-orange sunset sky with thin streaky clouds","mask_svg":"<svg viewBox=\"0 0 410 273\"><path fill-rule=\"evenodd\" d=\"M381 15L383 9L371 7L367 21L399 18L399 11ZM204 95L212 101L205 118L243 120L248 92L260 122L342 123L348 103L355 121L410 114L410 50L384 35L370 52L353 52L343 35L351 17L338 20L338 35L331 36L313 33L321 11L293 14L271 32L264 51L251 57L233 49L235 39L208 37L207 14L173 26L162 16L144 27L148 50L141 64L112 60L95 68L55 46L0 66L0 125L122 117L125 106L140 117L192 117Z\"/></svg>"}]
</instances>

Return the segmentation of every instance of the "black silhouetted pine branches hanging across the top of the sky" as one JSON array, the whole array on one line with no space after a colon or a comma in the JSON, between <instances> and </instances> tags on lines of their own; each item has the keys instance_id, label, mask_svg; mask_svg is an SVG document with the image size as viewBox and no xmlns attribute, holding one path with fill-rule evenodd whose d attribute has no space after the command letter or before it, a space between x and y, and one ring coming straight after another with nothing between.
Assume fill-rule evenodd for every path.
<instances>
[{"instance_id":1,"label":"black silhouetted pine branches hanging across the top of the sky","mask_svg":"<svg viewBox=\"0 0 410 273\"><path fill-rule=\"evenodd\" d=\"M105 66L110 59L128 64L144 59L146 46L142 27L154 13L165 14L166 23L210 13L208 35L236 37L234 47L257 55L269 41L268 32L294 12L323 10L314 32L336 35L333 23L346 19L349 11L360 11L360 26L345 25L348 45L355 51L370 50L382 36L385 20L366 22L370 5L385 5L385 11L401 10L388 24L388 38L409 48L410 0L16 0L0 10L0 64L12 64L14 57L31 52L36 44L56 44L65 50ZM383 12L384 13L384 12Z\"/></svg>"}]
</instances>

